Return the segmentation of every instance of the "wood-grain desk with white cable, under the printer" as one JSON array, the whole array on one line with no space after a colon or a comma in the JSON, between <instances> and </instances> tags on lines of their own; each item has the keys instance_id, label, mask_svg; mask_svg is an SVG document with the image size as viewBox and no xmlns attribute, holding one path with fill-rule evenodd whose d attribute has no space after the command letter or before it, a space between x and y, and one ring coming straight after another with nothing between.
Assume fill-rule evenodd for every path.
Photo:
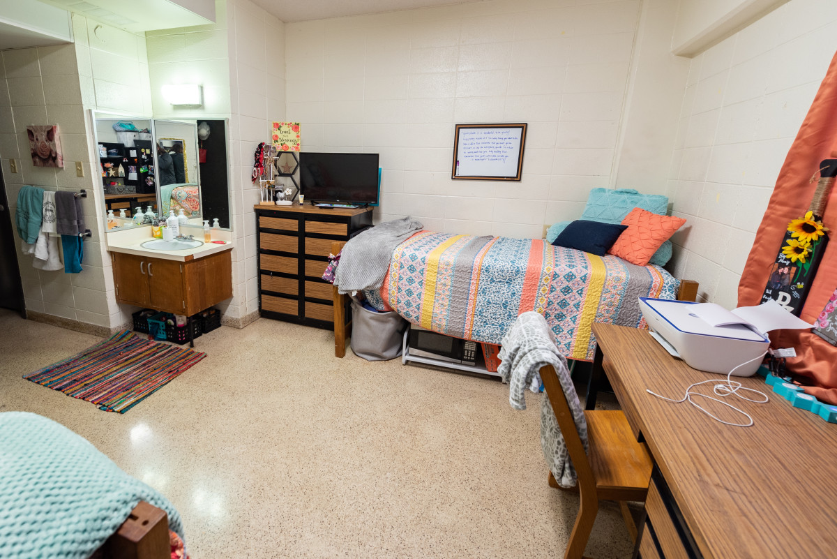
<instances>
[{"instance_id":1,"label":"wood-grain desk with white cable, under the printer","mask_svg":"<svg viewBox=\"0 0 837 559\"><path fill-rule=\"evenodd\" d=\"M676 360L648 331L594 324L593 333L631 428L655 460L646 501L651 531L661 541L673 537L667 542L670 550L677 536L684 548L690 547L689 539L695 546L693 554L680 550L664 556L837 556L837 425L792 408L758 376L737 380L768 394L768 403L725 398L755 424L718 423L690 403L665 402L645 390L680 398L692 382L724 377ZM711 393L711 388L701 392ZM718 417L742 421L726 406L701 400ZM652 514L653 507L661 506L651 499L655 485L675 531ZM640 552L648 546L646 534L639 540Z\"/></svg>"}]
</instances>

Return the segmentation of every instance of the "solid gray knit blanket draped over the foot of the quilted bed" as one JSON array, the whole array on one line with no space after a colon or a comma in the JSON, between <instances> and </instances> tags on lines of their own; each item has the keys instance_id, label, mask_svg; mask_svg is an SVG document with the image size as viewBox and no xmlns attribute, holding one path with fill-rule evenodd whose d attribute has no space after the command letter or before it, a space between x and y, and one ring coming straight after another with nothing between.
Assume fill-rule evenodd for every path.
<instances>
[{"instance_id":1,"label":"solid gray knit blanket draped over the foot of the quilted bed","mask_svg":"<svg viewBox=\"0 0 837 559\"><path fill-rule=\"evenodd\" d=\"M350 239L340 253L340 264L334 273L337 291L352 293L380 288L393 250L423 228L424 225L408 216L381 223Z\"/></svg>"}]
</instances>

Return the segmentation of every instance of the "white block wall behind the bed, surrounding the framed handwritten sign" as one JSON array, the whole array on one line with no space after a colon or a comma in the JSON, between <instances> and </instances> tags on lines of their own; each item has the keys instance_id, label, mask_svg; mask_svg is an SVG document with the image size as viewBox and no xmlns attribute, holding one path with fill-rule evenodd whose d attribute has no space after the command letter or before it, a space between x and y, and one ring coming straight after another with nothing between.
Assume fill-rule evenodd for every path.
<instances>
[{"instance_id":1,"label":"white block wall behind the bed, surrounding the framed handwritten sign","mask_svg":"<svg viewBox=\"0 0 837 559\"><path fill-rule=\"evenodd\" d=\"M303 150L381 154L378 220L540 238L610 183L639 18L636 0L567 4L289 23L288 120L302 123ZM455 123L520 121L521 182L451 181Z\"/></svg>"}]
</instances>

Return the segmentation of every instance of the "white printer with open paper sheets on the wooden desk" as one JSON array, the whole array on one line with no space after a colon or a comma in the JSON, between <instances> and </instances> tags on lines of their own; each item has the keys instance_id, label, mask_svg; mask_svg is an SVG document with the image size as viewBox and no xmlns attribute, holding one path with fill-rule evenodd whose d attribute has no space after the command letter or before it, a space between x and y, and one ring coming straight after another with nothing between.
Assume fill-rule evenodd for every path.
<instances>
[{"instance_id":1,"label":"white printer with open paper sheets on the wooden desk","mask_svg":"<svg viewBox=\"0 0 837 559\"><path fill-rule=\"evenodd\" d=\"M639 308L651 336L671 355L699 371L727 375L735 369L734 377L755 374L762 364L758 357L770 346L766 332L812 327L774 300L730 311L712 303L640 297Z\"/></svg>"}]
</instances>

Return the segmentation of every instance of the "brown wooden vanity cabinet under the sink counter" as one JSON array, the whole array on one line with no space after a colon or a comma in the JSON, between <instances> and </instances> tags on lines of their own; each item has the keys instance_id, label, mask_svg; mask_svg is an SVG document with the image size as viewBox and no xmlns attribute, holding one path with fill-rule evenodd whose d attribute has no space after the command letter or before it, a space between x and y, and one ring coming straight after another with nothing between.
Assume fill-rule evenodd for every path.
<instances>
[{"instance_id":1,"label":"brown wooden vanity cabinet under the sink counter","mask_svg":"<svg viewBox=\"0 0 837 559\"><path fill-rule=\"evenodd\" d=\"M233 296L231 253L229 249L186 262L110 253L116 300L175 315L194 315Z\"/></svg>"}]
</instances>

